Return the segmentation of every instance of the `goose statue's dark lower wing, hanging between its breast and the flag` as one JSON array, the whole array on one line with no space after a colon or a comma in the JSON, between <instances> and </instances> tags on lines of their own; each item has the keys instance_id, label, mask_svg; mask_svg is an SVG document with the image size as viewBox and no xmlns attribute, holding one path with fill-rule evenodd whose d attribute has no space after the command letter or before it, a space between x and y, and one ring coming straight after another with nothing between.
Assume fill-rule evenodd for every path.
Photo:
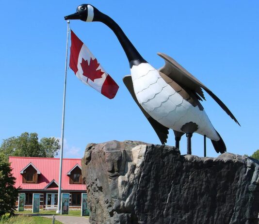
<instances>
[{"instance_id":1,"label":"goose statue's dark lower wing, hanging between its breast and the flag","mask_svg":"<svg viewBox=\"0 0 259 224\"><path fill-rule=\"evenodd\" d=\"M159 122L157 122L155 119L153 119L144 109L143 107L139 104L135 93L133 89L133 83L131 76L125 76L123 78L123 82L126 85L127 89L129 90L130 95L132 98L135 100L136 104L139 106L140 110L144 113L146 116L146 119L149 121L150 125L154 128L155 132L157 133L160 141L162 144L165 144L167 142L167 137L168 137L168 130L169 128L164 127L161 125Z\"/></svg>"}]
</instances>

